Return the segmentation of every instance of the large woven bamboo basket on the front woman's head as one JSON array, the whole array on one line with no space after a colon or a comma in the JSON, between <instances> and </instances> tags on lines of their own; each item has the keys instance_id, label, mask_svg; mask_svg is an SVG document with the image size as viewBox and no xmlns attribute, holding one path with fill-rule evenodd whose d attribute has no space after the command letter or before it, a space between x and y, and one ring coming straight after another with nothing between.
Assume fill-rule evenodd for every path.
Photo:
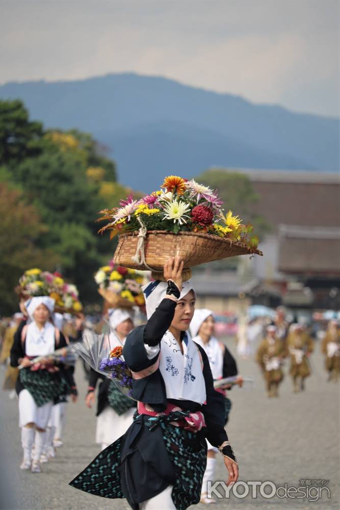
<instances>
[{"instance_id":1,"label":"large woven bamboo basket on the front woman's head","mask_svg":"<svg viewBox=\"0 0 340 510\"><path fill-rule=\"evenodd\" d=\"M210 234L179 232L172 234L167 231L148 231L144 240L144 265L134 261L138 248L138 232L129 232L119 236L118 246L114 254L116 264L132 269L152 269L153 277L162 278L163 266L171 257L180 257L184 261L184 279L191 276L190 268L212 262L214 260L252 254L244 244L222 239ZM254 253L262 255L260 250ZM141 253L139 253L141 256Z\"/></svg>"}]
</instances>

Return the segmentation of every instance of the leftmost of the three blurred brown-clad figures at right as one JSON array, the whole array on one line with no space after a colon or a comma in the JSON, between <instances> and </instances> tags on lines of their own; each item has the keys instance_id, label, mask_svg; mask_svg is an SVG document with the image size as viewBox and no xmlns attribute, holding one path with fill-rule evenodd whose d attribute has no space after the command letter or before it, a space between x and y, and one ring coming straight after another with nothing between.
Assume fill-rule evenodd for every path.
<instances>
[{"instance_id":1,"label":"leftmost of the three blurred brown-clad figures at right","mask_svg":"<svg viewBox=\"0 0 340 510\"><path fill-rule=\"evenodd\" d=\"M279 396L278 386L283 380L281 365L284 357L285 348L276 336L276 326L270 325L256 352L256 361L263 371L269 397Z\"/></svg>"}]
</instances>

